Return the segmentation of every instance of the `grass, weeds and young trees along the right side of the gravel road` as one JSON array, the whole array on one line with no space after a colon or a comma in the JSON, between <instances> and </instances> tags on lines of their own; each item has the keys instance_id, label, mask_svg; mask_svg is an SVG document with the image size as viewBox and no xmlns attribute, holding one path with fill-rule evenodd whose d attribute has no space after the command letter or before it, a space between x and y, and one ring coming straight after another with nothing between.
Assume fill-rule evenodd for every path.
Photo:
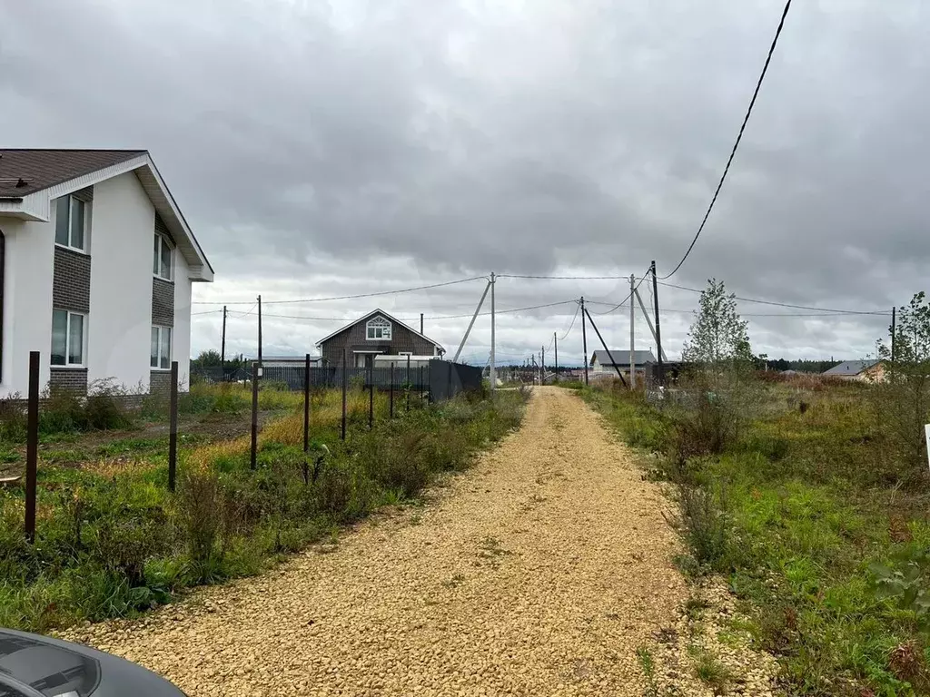
<instances>
[{"instance_id":1,"label":"grass, weeds and young trees along the right side of the gravel road","mask_svg":"<svg viewBox=\"0 0 930 697\"><path fill-rule=\"evenodd\" d=\"M930 309L899 309L877 384L757 373L723 284L702 296L689 375L580 388L649 476L674 484L693 578L724 575L790 694L930 694ZM705 331L709 330L709 331Z\"/></svg>"}]
</instances>

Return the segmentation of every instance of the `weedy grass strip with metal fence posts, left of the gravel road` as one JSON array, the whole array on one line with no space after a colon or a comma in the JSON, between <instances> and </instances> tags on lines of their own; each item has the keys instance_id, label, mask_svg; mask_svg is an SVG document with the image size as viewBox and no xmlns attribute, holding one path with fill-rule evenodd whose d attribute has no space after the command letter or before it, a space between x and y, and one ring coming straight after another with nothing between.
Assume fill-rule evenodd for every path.
<instances>
[{"instance_id":1,"label":"weedy grass strip with metal fence posts, left of the gravel road","mask_svg":"<svg viewBox=\"0 0 930 697\"><path fill-rule=\"evenodd\" d=\"M46 631L132 615L184 588L260 572L379 506L414 500L436 473L467 467L519 425L524 403L517 392L493 403L414 400L406 413L400 398L388 420L387 396L377 398L369 431L368 395L352 391L340 441L339 392L314 395L308 460L302 396L262 390L261 408L277 415L262 428L258 467L247 435L182 436L176 494L166 437L130 432L86 446L100 434L46 427L34 545L24 541L21 487L0 490L0 626ZM238 386L195 388L185 411L233 419L249 399ZM7 452L18 453L15 428L5 433Z\"/></svg>"}]
</instances>

